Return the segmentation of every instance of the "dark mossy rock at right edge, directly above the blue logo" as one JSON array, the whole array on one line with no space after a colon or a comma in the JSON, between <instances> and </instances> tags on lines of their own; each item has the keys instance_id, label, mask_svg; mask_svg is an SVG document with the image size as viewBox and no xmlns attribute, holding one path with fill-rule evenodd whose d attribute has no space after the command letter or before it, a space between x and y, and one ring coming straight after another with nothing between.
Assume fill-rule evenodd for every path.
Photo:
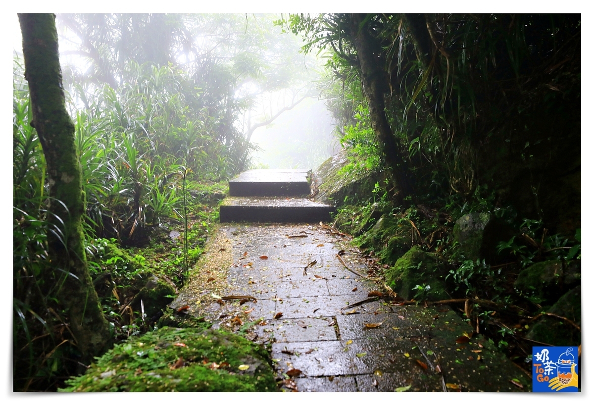
<instances>
[{"instance_id":1,"label":"dark mossy rock at right edge, directly above the blue logo","mask_svg":"<svg viewBox=\"0 0 594 405\"><path fill-rule=\"evenodd\" d=\"M582 325L582 286L577 286L548 309L549 313L570 319ZM527 338L553 346L577 346L582 344L582 333L559 318L544 316L530 329Z\"/></svg>"}]
</instances>

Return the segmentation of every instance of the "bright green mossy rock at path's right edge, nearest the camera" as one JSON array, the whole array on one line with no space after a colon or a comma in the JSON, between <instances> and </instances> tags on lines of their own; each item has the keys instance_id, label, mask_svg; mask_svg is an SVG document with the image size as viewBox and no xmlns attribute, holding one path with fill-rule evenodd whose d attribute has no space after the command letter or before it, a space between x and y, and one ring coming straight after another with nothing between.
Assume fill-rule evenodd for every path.
<instances>
[{"instance_id":1,"label":"bright green mossy rock at path's right edge, nearest the camera","mask_svg":"<svg viewBox=\"0 0 594 405\"><path fill-rule=\"evenodd\" d=\"M431 256L419 246L413 246L405 255L386 270L386 280L398 295L404 299L415 296L415 286L431 286L426 290L425 298L429 300L448 299L437 264Z\"/></svg>"}]
</instances>

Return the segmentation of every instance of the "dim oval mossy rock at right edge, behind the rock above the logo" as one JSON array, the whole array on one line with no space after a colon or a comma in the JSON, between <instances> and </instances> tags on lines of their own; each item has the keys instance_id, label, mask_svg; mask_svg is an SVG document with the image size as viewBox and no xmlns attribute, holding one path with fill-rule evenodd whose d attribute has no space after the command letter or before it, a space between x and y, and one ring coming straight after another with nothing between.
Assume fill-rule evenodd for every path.
<instances>
[{"instance_id":1,"label":"dim oval mossy rock at right edge, behind the rock above the logo","mask_svg":"<svg viewBox=\"0 0 594 405\"><path fill-rule=\"evenodd\" d=\"M571 261L566 265L560 260L535 263L520 272L514 288L521 295L540 300L557 298L568 288L580 283L580 263L580 260Z\"/></svg>"}]
</instances>

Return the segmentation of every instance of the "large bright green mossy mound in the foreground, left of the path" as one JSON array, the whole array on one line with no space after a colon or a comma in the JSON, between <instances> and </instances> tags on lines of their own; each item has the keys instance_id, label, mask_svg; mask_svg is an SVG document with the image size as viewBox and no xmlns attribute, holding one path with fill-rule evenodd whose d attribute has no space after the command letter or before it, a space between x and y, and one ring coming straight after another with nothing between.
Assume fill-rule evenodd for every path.
<instances>
[{"instance_id":1,"label":"large bright green mossy mound in the foreground, left of the path","mask_svg":"<svg viewBox=\"0 0 594 405\"><path fill-rule=\"evenodd\" d=\"M276 391L268 353L224 331L164 327L116 344L62 391Z\"/></svg>"}]
</instances>

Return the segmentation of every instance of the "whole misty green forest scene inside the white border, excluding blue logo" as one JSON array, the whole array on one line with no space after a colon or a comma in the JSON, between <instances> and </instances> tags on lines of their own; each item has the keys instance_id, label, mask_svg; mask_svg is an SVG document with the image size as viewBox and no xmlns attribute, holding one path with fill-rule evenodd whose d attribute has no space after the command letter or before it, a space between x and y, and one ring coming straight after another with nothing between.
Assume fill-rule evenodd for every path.
<instances>
[{"instance_id":1,"label":"whole misty green forest scene inside the white border, excluding blue logo","mask_svg":"<svg viewBox=\"0 0 594 405\"><path fill-rule=\"evenodd\" d=\"M530 391L533 346L581 361L581 15L18 23L14 391Z\"/></svg>"}]
</instances>

